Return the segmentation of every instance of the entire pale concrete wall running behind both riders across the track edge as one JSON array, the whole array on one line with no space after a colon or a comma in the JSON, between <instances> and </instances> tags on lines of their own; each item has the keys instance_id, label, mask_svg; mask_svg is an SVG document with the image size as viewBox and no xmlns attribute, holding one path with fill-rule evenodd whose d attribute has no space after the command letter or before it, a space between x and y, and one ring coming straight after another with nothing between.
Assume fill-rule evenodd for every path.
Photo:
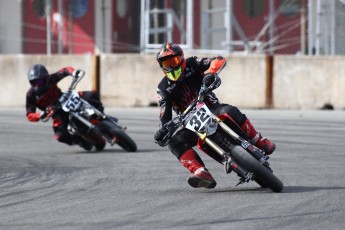
<instances>
[{"instance_id":1,"label":"entire pale concrete wall running behind both riders across the track edge","mask_svg":"<svg viewBox=\"0 0 345 230\"><path fill-rule=\"evenodd\" d=\"M190 55L186 55L190 56ZM199 57L211 55L197 55ZM95 88L92 55L0 56L0 106L24 106L27 71L34 63L49 72L71 65L86 71L78 89ZM326 103L345 108L345 57L275 56L273 103L280 109L318 109ZM100 90L106 106L148 106L157 103L156 87L163 73L155 55L116 54L100 57ZM240 108L266 106L265 56L230 56L221 72L218 98ZM66 89L70 79L60 86Z\"/></svg>"}]
</instances>

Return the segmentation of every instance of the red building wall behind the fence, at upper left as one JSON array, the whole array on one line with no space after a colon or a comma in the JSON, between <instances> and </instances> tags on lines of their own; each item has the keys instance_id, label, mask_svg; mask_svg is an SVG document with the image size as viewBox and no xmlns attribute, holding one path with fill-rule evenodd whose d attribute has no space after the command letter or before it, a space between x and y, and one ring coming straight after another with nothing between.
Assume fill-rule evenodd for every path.
<instances>
[{"instance_id":1,"label":"red building wall behind the fence, at upper left","mask_svg":"<svg viewBox=\"0 0 345 230\"><path fill-rule=\"evenodd\" d=\"M23 4L23 52L28 54L47 53L46 17L39 17L33 10L35 0L22 1ZM53 0L51 17L51 50L57 53L59 24L54 21L57 13L57 0ZM94 1L88 1L88 11L80 18L69 20L68 2L63 1L63 53L93 53L95 42ZM70 26L72 30L70 31ZM70 46L71 44L71 46Z\"/></svg>"}]
</instances>

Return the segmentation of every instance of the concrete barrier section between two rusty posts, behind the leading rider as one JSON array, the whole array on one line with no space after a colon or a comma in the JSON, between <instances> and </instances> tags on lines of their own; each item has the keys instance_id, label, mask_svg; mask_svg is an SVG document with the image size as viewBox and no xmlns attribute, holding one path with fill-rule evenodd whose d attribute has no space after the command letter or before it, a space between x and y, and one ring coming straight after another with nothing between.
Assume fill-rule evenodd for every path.
<instances>
[{"instance_id":1,"label":"concrete barrier section between two rusty posts, behind the leading rider","mask_svg":"<svg viewBox=\"0 0 345 230\"><path fill-rule=\"evenodd\" d=\"M220 74L222 85L215 93L224 103L265 107L265 71L264 56L228 57L227 66ZM104 55L101 57L103 102L118 106L157 103L156 88L163 76L155 55Z\"/></svg>"}]
</instances>

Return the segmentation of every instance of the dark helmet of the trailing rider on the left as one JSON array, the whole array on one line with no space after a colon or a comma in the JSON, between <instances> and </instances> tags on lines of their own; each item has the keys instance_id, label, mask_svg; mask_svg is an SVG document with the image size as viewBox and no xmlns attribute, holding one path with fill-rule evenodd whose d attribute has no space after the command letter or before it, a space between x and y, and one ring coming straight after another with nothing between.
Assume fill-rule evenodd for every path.
<instances>
[{"instance_id":1,"label":"dark helmet of the trailing rider on the left","mask_svg":"<svg viewBox=\"0 0 345 230\"><path fill-rule=\"evenodd\" d=\"M30 67L28 79L34 91L38 94L44 93L48 89L49 73L41 64L35 64Z\"/></svg>"}]
</instances>

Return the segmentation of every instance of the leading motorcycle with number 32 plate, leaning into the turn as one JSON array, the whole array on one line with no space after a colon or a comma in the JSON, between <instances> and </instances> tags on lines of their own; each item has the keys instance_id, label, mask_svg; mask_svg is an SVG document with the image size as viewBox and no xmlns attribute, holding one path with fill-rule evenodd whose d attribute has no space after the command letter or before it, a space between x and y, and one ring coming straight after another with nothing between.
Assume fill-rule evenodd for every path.
<instances>
[{"instance_id":1,"label":"leading motorcycle with number 32 plate, leaning into the turn","mask_svg":"<svg viewBox=\"0 0 345 230\"><path fill-rule=\"evenodd\" d=\"M162 127L166 129L162 145L168 145L170 137L178 129L187 128L199 137L197 146L200 150L223 164L226 173L234 171L239 176L237 185L255 181L261 187L281 192L284 185L273 174L269 157L249 142L246 134L228 114L216 116L203 102L204 97L219 86L213 84L202 86L198 98L182 114Z\"/></svg>"}]
</instances>

